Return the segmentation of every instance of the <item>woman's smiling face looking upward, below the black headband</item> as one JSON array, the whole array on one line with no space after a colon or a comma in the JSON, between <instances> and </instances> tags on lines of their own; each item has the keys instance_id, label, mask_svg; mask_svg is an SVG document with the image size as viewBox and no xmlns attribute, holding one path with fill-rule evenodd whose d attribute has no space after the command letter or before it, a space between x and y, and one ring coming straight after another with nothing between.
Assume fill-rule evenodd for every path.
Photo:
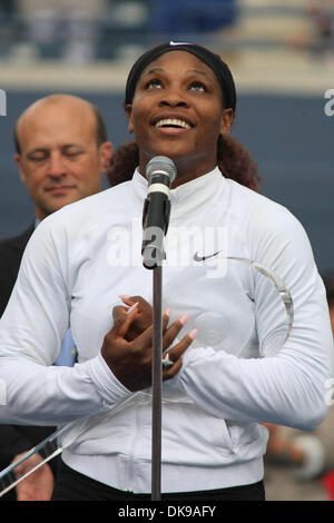
<instances>
[{"instance_id":1,"label":"woman's smiling face looking upward, below the black headband","mask_svg":"<svg viewBox=\"0 0 334 523\"><path fill-rule=\"evenodd\" d=\"M214 71L186 51L166 52L150 62L126 109L140 172L154 156L167 156L178 171L174 186L215 168L218 137L229 132L233 120Z\"/></svg>"}]
</instances>

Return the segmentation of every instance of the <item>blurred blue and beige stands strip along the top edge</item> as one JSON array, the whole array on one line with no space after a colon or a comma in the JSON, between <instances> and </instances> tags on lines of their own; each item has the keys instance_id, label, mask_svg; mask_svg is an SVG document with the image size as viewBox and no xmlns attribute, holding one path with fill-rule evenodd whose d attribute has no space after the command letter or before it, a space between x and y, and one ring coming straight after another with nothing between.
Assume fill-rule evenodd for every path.
<instances>
[{"instance_id":1,"label":"blurred blue and beige stands strip along the top edge","mask_svg":"<svg viewBox=\"0 0 334 523\"><path fill-rule=\"evenodd\" d=\"M318 59L333 53L333 0L0 0L0 58L132 60L157 41L198 36L265 49L277 23L278 46Z\"/></svg>"}]
</instances>

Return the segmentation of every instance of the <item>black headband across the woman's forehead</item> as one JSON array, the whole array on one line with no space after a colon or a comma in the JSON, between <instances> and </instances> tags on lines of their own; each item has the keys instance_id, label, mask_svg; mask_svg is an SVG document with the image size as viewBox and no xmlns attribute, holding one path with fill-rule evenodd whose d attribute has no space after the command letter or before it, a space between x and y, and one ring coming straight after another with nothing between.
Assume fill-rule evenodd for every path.
<instances>
[{"instance_id":1,"label":"black headband across the woman's forehead","mask_svg":"<svg viewBox=\"0 0 334 523\"><path fill-rule=\"evenodd\" d=\"M233 76L228 66L220 59L218 55L209 51L205 47L197 46L196 43L170 42L161 43L160 46L150 49L141 55L134 63L126 85L125 105L132 103L137 81L144 69L156 58L169 51L187 51L195 55L204 61L216 75L218 82L223 90L225 108L236 108L236 90Z\"/></svg>"}]
</instances>

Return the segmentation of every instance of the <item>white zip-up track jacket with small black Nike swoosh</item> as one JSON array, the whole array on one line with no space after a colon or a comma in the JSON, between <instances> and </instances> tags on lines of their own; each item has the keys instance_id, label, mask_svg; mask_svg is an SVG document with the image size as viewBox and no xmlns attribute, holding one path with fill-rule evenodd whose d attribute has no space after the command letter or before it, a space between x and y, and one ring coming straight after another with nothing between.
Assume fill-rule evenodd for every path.
<instances>
[{"instance_id":1,"label":"white zip-up track jacket with small black Nike swoosh","mask_svg":"<svg viewBox=\"0 0 334 523\"><path fill-rule=\"evenodd\" d=\"M119 383L100 347L119 295L153 303L140 254L146 195L136 171L46 218L0 320L0 422L61 426L110 412L62 458L132 492L150 492L151 394ZM163 386L161 491L257 482L261 423L312 430L328 408L333 337L308 239L287 209L216 168L171 190L165 248L163 307L171 322L189 314L179 337L198 336ZM68 327L79 363L52 366Z\"/></svg>"}]
</instances>

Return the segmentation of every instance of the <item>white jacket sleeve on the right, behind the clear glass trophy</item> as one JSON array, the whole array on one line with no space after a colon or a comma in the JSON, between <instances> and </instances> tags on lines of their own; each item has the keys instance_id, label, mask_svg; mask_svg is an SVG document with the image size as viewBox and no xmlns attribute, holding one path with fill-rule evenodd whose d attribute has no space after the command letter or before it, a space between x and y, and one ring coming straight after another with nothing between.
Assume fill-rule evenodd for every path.
<instances>
[{"instance_id":1,"label":"white jacket sleeve on the right, behind the clear glass trophy","mask_svg":"<svg viewBox=\"0 0 334 523\"><path fill-rule=\"evenodd\" d=\"M175 386L218 417L312 430L328 411L326 387L333 376L323 282L303 227L286 209L257 209L246 234L252 258L271 267L289 288L294 303L289 337L268 353L275 343L275 310L255 278L259 357L243 359L210 347L190 348Z\"/></svg>"}]
</instances>

